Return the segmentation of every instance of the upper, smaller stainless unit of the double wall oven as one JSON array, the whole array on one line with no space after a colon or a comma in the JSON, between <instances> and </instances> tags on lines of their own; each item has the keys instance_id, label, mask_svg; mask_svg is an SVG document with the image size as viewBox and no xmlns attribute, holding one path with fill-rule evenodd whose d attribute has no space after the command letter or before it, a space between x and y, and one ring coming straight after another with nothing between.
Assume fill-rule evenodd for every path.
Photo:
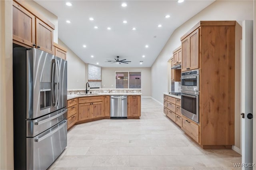
<instances>
[{"instance_id":1,"label":"upper, smaller stainless unit of the double wall oven","mask_svg":"<svg viewBox=\"0 0 256 170\"><path fill-rule=\"evenodd\" d=\"M181 89L199 91L199 69L181 73Z\"/></svg>"}]
</instances>

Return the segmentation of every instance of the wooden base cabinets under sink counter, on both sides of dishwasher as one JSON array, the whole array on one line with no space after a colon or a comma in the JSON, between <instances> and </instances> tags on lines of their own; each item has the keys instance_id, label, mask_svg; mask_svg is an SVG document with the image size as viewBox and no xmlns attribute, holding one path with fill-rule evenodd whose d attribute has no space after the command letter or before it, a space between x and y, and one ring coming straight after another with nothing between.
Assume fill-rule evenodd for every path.
<instances>
[{"instance_id":1,"label":"wooden base cabinets under sink counter, on both sides of dishwasher","mask_svg":"<svg viewBox=\"0 0 256 170\"><path fill-rule=\"evenodd\" d=\"M128 119L140 118L140 96L128 96ZM68 129L78 123L110 119L110 96L77 97L68 100Z\"/></svg>"}]
</instances>

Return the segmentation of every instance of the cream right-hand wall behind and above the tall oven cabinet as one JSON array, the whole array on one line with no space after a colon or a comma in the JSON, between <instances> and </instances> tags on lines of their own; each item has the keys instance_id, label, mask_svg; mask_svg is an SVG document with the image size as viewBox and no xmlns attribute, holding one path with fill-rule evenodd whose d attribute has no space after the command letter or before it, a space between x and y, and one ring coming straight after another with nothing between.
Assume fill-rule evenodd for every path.
<instances>
[{"instance_id":1,"label":"cream right-hand wall behind and above the tall oven cabinet","mask_svg":"<svg viewBox=\"0 0 256 170\"><path fill-rule=\"evenodd\" d=\"M192 28L196 23L198 23L200 20L236 20L240 25L242 25L243 20L252 19L253 1L215 1L194 17L190 18L187 22L182 24L182 26L177 28L170 36L166 45L151 67L152 97L161 103L163 102L163 93L168 92L169 65L167 61L172 55L172 51L181 45L180 37L188 32L188 30L190 30L190 28ZM236 73L239 71L236 70ZM237 89L238 88L236 87L236 90ZM236 91L236 94L237 93L240 93L240 91ZM236 104L238 101L239 99L236 99ZM240 103L238 105L240 105ZM239 112L240 109L236 110L235 113L235 146L238 148L240 148Z\"/></svg>"}]
</instances>

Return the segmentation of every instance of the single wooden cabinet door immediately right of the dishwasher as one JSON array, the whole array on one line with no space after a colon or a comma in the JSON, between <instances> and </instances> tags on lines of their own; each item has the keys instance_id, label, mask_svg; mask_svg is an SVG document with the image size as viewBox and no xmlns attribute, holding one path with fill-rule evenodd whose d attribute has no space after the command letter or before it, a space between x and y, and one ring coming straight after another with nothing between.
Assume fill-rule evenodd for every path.
<instances>
[{"instance_id":1,"label":"single wooden cabinet door immediately right of the dishwasher","mask_svg":"<svg viewBox=\"0 0 256 170\"><path fill-rule=\"evenodd\" d=\"M128 96L128 116L140 116L140 96Z\"/></svg>"}]
</instances>

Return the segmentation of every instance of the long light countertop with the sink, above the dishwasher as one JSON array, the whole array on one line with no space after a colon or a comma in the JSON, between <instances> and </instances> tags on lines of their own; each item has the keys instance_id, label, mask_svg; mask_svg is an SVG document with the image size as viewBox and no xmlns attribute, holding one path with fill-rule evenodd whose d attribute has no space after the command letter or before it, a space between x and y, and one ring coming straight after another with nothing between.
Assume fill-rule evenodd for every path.
<instances>
[{"instance_id":1,"label":"long light countertop with the sink, above the dishwasher","mask_svg":"<svg viewBox=\"0 0 256 170\"><path fill-rule=\"evenodd\" d=\"M140 96L142 95L142 93L88 93L87 95L82 95L82 94L78 94L78 95L68 95L68 100L69 99L74 99L76 97L90 97L90 96L103 96L103 95L107 95L107 96L111 96L111 95L126 95L126 96Z\"/></svg>"}]
</instances>

